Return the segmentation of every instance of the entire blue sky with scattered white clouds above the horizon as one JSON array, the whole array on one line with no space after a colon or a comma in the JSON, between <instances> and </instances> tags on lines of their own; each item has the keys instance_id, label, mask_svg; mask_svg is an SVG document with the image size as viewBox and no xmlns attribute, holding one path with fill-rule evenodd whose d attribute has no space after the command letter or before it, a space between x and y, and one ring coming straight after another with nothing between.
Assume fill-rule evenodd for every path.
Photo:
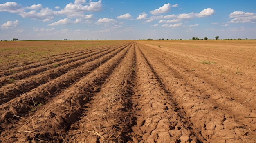
<instances>
[{"instance_id":1,"label":"entire blue sky with scattered white clouds above the horizon","mask_svg":"<svg viewBox=\"0 0 256 143\"><path fill-rule=\"evenodd\" d=\"M256 39L256 0L0 0L0 40Z\"/></svg>"}]
</instances>

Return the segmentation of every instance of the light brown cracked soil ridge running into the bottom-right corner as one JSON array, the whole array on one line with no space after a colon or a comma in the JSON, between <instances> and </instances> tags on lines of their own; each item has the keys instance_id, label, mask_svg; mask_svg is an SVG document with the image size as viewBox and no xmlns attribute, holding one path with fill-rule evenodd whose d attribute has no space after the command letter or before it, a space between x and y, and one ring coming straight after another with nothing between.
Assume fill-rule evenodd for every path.
<instances>
[{"instance_id":1,"label":"light brown cracked soil ridge running into the bottom-right corner","mask_svg":"<svg viewBox=\"0 0 256 143\"><path fill-rule=\"evenodd\" d=\"M144 48L141 50L176 103L184 108L186 120L192 123L192 128L200 141L240 143L251 142L255 138L255 132L249 128L250 125L232 118L230 111L220 111L221 109L216 108L211 101L196 94L197 92L182 79L177 79L178 77L173 75L166 65L150 58Z\"/></svg>"}]
</instances>

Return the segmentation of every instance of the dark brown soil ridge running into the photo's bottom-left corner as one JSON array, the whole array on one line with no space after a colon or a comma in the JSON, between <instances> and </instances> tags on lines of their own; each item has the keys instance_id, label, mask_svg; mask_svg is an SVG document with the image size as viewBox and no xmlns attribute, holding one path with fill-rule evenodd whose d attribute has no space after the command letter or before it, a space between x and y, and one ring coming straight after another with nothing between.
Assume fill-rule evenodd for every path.
<instances>
[{"instance_id":1,"label":"dark brown soil ridge running into the photo's bottom-left corner","mask_svg":"<svg viewBox=\"0 0 256 143\"><path fill-rule=\"evenodd\" d=\"M30 120L33 122L27 122L25 125L17 125L12 131L17 132L18 130L30 130L34 133L17 132L12 134L9 141L6 142L20 142L22 136L28 136L25 140L39 141L38 139L44 139L47 141L62 142L63 136L66 138L66 131L70 129L70 125L83 115L86 110L85 103L88 102L88 98L92 96L92 93L98 92L99 87L103 84L106 78L112 73L113 69L119 64L121 59L127 53L130 48L127 45L125 49L121 50L120 53L114 57L110 57L109 60L100 65L96 70L93 70L86 77L64 90L61 94L57 95L52 99L51 103L46 106L41 106L31 116ZM23 119L19 123L23 123ZM35 123L35 124L34 124ZM40 126L36 124L41 124ZM48 130L52 128L52 130ZM18 129L18 130L17 130ZM7 138L9 136L6 136Z\"/></svg>"}]
</instances>

